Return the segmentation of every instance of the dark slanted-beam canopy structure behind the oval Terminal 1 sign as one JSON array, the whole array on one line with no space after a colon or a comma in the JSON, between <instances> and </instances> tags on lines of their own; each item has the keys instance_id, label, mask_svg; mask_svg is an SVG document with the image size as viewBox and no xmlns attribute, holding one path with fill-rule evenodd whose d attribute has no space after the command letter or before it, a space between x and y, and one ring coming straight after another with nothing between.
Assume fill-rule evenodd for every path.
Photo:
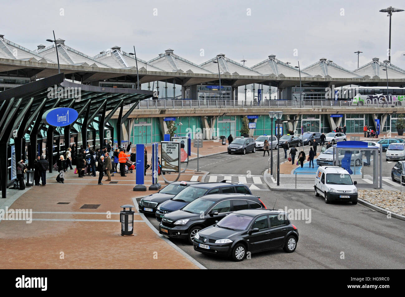
<instances>
[{"instance_id":1,"label":"dark slanted-beam canopy structure behind the oval Terminal 1 sign","mask_svg":"<svg viewBox=\"0 0 405 297\"><path fill-rule=\"evenodd\" d=\"M69 82L64 73L59 73L0 92L0 180L2 198L6 198L6 186L11 181L13 160L23 157L26 141L28 146L28 168L34 168L33 161L38 153L38 136L47 138L47 150L53 151L53 139L60 140L63 130L64 148L70 146L70 137L77 135L74 125L81 131L83 145L87 144L87 130L99 131L100 144L104 143L104 128L113 131L109 124L111 116L119 109L117 129L118 143L121 142L122 123L138 105L139 101L153 96L153 91L130 88L104 88ZM125 105L132 105L123 115ZM67 107L75 109L77 120L62 128L56 128L42 122L42 116L51 108ZM72 132L71 132L72 130ZM56 135L55 135L56 134ZM59 134L59 135L58 135ZM94 136L96 133L94 133ZM77 142L77 136L76 136ZM10 142L14 142L11 156ZM58 148L59 149L59 148ZM39 152L40 153L40 152ZM9 160L9 158L12 158ZM49 153L49 171L52 172L53 154ZM8 169L10 170L7 174Z\"/></svg>"}]
</instances>

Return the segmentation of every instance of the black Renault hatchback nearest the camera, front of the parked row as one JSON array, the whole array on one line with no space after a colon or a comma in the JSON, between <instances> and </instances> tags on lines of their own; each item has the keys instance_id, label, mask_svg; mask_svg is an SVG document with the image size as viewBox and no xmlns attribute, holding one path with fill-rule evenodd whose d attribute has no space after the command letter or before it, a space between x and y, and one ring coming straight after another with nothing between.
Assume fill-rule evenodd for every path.
<instances>
[{"instance_id":1,"label":"black Renault hatchback nearest the camera, front of the parked row","mask_svg":"<svg viewBox=\"0 0 405 297\"><path fill-rule=\"evenodd\" d=\"M203 254L230 256L242 261L247 252L283 248L295 251L298 229L284 211L246 209L235 211L217 224L198 231L194 250Z\"/></svg>"}]
</instances>

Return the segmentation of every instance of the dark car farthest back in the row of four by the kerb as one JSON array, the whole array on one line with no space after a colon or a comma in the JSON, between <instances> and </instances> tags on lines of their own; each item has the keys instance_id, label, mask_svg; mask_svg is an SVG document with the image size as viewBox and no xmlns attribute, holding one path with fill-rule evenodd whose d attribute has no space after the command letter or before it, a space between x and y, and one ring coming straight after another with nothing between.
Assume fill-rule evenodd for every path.
<instances>
[{"instance_id":1,"label":"dark car farthest back in the row of four by the kerb","mask_svg":"<svg viewBox=\"0 0 405 297\"><path fill-rule=\"evenodd\" d=\"M140 213L155 213L159 204L173 198L189 185L200 183L199 181L175 181L166 185L157 193L153 193L139 200L138 207Z\"/></svg>"}]
</instances>

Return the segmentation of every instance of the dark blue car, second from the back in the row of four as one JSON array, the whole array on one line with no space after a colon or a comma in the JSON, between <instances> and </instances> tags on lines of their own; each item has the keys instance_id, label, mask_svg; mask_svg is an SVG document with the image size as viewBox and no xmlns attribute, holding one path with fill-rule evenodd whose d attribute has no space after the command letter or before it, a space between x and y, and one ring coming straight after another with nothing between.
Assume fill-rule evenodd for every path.
<instances>
[{"instance_id":1,"label":"dark blue car, second from the back in the row of four","mask_svg":"<svg viewBox=\"0 0 405 297\"><path fill-rule=\"evenodd\" d=\"M252 194L249 188L246 185L243 185L243 183L228 182L225 180L220 181L219 183L198 183L185 188L170 200L160 204L156 209L156 220L160 222L166 213L177 211L198 197L220 193Z\"/></svg>"}]
</instances>

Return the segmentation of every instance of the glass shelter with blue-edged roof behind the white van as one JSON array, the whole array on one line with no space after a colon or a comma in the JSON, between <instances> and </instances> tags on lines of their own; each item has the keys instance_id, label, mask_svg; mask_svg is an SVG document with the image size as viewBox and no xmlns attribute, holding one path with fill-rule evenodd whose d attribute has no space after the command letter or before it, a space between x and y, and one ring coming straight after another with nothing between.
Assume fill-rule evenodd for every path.
<instances>
[{"instance_id":1,"label":"glass shelter with blue-edged roof behind the white van","mask_svg":"<svg viewBox=\"0 0 405 297\"><path fill-rule=\"evenodd\" d=\"M333 164L357 181L358 187L382 189L382 147L364 141L341 141L333 145Z\"/></svg>"}]
</instances>

